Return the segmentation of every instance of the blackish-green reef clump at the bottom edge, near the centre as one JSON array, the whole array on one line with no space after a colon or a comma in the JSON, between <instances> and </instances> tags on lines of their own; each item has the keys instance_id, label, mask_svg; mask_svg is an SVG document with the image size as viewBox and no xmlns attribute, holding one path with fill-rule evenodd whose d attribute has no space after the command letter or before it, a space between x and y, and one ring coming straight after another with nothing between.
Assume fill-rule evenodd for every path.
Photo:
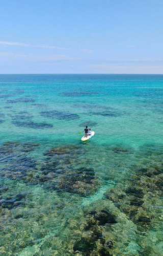
<instances>
[{"instance_id":1,"label":"blackish-green reef clump at the bottom edge, near the centre","mask_svg":"<svg viewBox=\"0 0 163 256\"><path fill-rule=\"evenodd\" d=\"M87 224L81 227L82 235L75 241L73 250L82 255L113 255L114 240L105 236L105 226L112 228L116 224L116 217L106 208L100 211L85 212Z\"/></svg>"}]
</instances>

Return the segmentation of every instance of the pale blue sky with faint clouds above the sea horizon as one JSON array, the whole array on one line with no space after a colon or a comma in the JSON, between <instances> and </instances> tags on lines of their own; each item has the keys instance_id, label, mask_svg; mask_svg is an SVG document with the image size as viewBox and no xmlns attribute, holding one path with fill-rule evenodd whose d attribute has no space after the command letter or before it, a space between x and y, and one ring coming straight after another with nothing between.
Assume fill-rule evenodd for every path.
<instances>
[{"instance_id":1,"label":"pale blue sky with faint clouds above the sea horizon","mask_svg":"<svg viewBox=\"0 0 163 256\"><path fill-rule=\"evenodd\" d=\"M0 6L0 74L163 74L162 0Z\"/></svg>"}]
</instances>

